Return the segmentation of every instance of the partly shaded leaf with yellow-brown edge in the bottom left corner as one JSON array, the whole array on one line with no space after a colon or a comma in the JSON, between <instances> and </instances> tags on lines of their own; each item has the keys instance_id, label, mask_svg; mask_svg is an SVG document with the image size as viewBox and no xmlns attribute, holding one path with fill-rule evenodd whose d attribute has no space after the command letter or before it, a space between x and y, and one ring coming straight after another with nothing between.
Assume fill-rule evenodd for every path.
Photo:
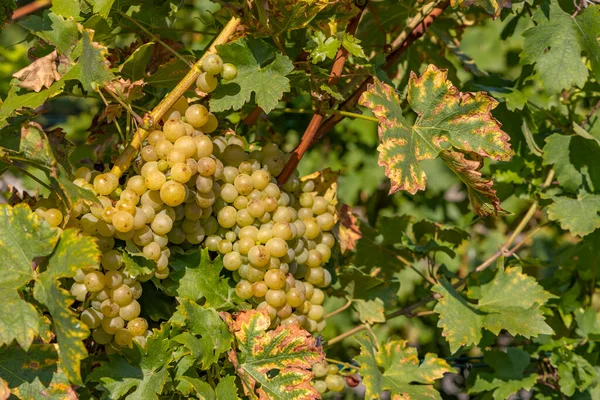
<instances>
[{"instance_id":1,"label":"partly shaded leaf with yellow-brown edge in the bottom left corner","mask_svg":"<svg viewBox=\"0 0 600 400\"><path fill-rule=\"evenodd\" d=\"M75 391L58 365L57 347L55 344L34 344L29 351L17 346L3 348L0 351L0 380L5 380L12 394L19 399L76 399Z\"/></svg>"}]
</instances>

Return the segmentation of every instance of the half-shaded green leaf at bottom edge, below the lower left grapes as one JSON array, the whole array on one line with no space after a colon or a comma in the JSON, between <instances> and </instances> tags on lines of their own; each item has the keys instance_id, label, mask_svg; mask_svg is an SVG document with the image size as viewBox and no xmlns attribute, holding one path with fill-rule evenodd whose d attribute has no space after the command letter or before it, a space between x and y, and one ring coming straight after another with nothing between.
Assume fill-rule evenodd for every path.
<instances>
[{"instance_id":1,"label":"half-shaded green leaf at bottom edge, below the lower left grapes","mask_svg":"<svg viewBox=\"0 0 600 400\"><path fill-rule=\"evenodd\" d=\"M169 364L173 360L169 331L166 328L148 337L146 349L135 344L126 356L108 356L86 378L99 382L105 391L102 399L156 400L171 380ZM132 389L135 389L131 391Z\"/></svg>"}]
</instances>

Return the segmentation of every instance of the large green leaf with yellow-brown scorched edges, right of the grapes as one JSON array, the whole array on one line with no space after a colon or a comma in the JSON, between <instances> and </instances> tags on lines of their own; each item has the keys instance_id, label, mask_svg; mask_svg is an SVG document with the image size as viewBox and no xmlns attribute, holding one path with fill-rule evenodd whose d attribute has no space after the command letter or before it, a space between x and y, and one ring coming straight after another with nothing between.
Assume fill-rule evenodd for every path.
<instances>
[{"instance_id":1,"label":"large green leaf with yellow-brown scorched edges, right of the grapes","mask_svg":"<svg viewBox=\"0 0 600 400\"><path fill-rule=\"evenodd\" d=\"M425 190L419 161L436 158L443 150L454 148L493 160L511 158L509 137L491 115L498 103L483 92L459 92L446 76L446 70L434 65L420 77L411 72L408 104L418 114L412 126L402 115L397 93L377 78L359 100L379 119L379 165L385 166L391 180L390 194Z\"/></svg>"}]
</instances>

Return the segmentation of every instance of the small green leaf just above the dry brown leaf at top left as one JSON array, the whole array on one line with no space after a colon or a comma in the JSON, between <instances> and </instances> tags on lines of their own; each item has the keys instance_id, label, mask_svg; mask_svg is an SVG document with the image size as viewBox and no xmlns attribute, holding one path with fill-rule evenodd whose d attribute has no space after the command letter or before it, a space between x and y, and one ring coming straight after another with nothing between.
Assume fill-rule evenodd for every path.
<instances>
[{"instance_id":1,"label":"small green leaf just above the dry brown leaf at top left","mask_svg":"<svg viewBox=\"0 0 600 400\"><path fill-rule=\"evenodd\" d=\"M63 18L51 11L44 11L42 17L30 15L19 21L19 25L40 39L54 45L71 61L71 53L79 41L79 29L72 18Z\"/></svg>"}]
</instances>

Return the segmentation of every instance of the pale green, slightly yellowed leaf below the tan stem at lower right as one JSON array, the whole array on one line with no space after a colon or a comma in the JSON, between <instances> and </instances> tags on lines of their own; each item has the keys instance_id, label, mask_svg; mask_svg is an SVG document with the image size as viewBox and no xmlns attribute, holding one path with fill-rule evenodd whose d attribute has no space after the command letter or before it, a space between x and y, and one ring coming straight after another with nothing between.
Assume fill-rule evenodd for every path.
<instances>
[{"instance_id":1,"label":"pale green, slightly yellowed leaf below the tan stem at lower right","mask_svg":"<svg viewBox=\"0 0 600 400\"><path fill-rule=\"evenodd\" d=\"M527 338L550 335L540 306L555 296L543 290L537 281L522 273L521 267L499 269L493 280L481 285L478 303L470 303L447 281L433 287L441 295L434 311L438 327L455 353L461 346L477 344L481 329L495 335L502 329Z\"/></svg>"}]
</instances>

